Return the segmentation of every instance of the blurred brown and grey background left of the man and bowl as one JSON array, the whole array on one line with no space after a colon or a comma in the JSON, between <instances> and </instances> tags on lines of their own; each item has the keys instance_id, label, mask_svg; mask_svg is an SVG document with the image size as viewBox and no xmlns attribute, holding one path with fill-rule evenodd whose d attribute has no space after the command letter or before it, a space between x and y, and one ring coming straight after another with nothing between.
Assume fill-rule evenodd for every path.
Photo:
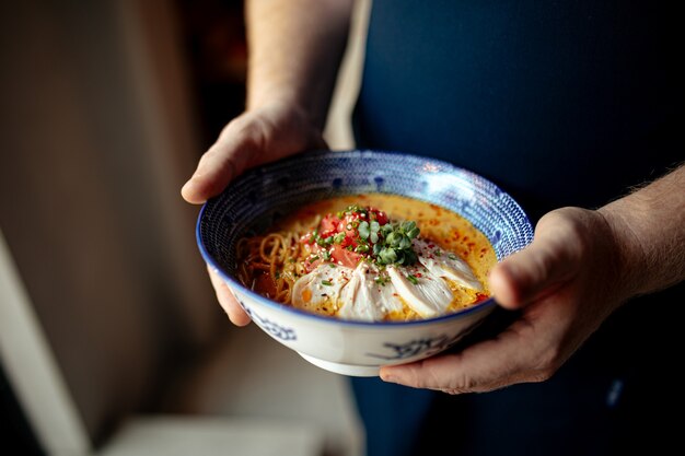
<instances>
[{"instance_id":1,"label":"blurred brown and grey background left of the man and bowl","mask_svg":"<svg viewBox=\"0 0 685 456\"><path fill-rule=\"evenodd\" d=\"M179 196L244 108L242 1L4 1L0 59L0 453L358 454L347 383L229 324Z\"/></svg>"}]
</instances>

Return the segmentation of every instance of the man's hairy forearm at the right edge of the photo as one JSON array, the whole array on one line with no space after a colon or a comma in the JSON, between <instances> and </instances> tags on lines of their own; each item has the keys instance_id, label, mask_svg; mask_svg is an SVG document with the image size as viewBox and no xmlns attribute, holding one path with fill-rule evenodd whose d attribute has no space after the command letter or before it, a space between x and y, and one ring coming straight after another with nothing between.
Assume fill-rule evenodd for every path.
<instances>
[{"instance_id":1,"label":"man's hairy forearm at the right edge of the photo","mask_svg":"<svg viewBox=\"0 0 685 456\"><path fill-rule=\"evenodd\" d=\"M685 279L685 165L600 209L619 248L625 297Z\"/></svg>"}]
</instances>

